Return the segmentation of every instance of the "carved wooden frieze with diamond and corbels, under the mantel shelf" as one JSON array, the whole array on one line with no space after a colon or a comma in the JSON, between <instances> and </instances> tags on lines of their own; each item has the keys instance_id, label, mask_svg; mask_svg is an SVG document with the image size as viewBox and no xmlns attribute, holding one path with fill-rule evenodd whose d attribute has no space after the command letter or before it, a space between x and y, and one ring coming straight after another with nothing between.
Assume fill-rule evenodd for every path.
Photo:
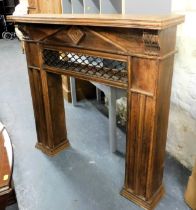
<instances>
[{"instance_id":1,"label":"carved wooden frieze with diamond and corbels, under the mantel shelf","mask_svg":"<svg viewBox=\"0 0 196 210\"><path fill-rule=\"evenodd\" d=\"M127 35L128 31L126 29L122 32L117 29L111 32L109 29L94 29L81 26L63 26L48 29L41 26L29 28L23 24L19 25L19 30L23 34L23 39L46 43L47 45L59 42L62 45L80 46L86 49L93 48L93 50L97 51L112 51L126 55L157 56L160 52L160 40L156 31L131 31ZM30 33L31 36L29 36Z\"/></svg>"}]
</instances>

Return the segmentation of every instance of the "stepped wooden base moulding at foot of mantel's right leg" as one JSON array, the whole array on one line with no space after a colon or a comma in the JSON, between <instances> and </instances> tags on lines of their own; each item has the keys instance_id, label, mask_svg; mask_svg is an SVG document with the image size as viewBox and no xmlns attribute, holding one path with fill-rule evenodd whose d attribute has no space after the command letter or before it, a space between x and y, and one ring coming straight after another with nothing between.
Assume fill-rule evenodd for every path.
<instances>
[{"instance_id":1,"label":"stepped wooden base moulding at foot of mantel's right leg","mask_svg":"<svg viewBox=\"0 0 196 210\"><path fill-rule=\"evenodd\" d=\"M124 187L121 190L120 194L123 197L125 197L128 200L134 202L135 204L137 204L138 206L140 206L144 209L153 210L155 208L155 206L157 205L157 203L160 201L160 199L165 194L165 191L164 191L163 186L161 186L159 188L159 190L157 191L157 193L148 201L143 200L140 196L137 196L137 195L133 194L129 190L125 189Z\"/></svg>"}]
</instances>

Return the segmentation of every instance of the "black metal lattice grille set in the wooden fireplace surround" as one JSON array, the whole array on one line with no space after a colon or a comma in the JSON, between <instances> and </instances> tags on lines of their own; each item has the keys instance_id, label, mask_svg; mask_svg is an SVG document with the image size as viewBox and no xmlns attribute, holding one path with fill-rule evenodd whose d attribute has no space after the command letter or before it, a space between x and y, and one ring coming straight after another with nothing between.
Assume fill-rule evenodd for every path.
<instances>
[{"instance_id":1,"label":"black metal lattice grille set in the wooden fireplace surround","mask_svg":"<svg viewBox=\"0 0 196 210\"><path fill-rule=\"evenodd\" d=\"M127 83L127 63L80 53L43 50L44 64L76 73Z\"/></svg>"}]
</instances>

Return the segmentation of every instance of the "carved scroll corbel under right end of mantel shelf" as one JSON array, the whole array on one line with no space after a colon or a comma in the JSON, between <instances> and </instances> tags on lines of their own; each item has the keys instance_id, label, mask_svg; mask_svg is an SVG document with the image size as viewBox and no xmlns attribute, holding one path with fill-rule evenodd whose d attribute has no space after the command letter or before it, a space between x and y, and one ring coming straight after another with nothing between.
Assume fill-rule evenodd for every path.
<instances>
[{"instance_id":1,"label":"carved scroll corbel under right end of mantel shelf","mask_svg":"<svg viewBox=\"0 0 196 210\"><path fill-rule=\"evenodd\" d=\"M143 32L145 54L158 55L160 52L159 36L150 32Z\"/></svg>"}]
</instances>

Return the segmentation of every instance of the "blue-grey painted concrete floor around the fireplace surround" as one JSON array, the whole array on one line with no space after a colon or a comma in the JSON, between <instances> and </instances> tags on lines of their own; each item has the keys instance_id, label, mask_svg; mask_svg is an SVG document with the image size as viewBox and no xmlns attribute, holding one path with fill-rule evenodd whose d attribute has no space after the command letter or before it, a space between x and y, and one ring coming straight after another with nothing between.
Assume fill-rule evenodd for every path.
<instances>
[{"instance_id":1,"label":"blue-grey painted concrete floor around the fireplace surround","mask_svg":"<svg viewBox=\"0 0 196 210\"><path fill-rule=\"evenodd\" d=\"M0 40L0 121L14 146L14 182L20 210L139 210L119 195L123 156L111 154L108 119L89 101L65 103L72 147L56 157L35 149L36 131L25 56L17 40ZM124 153L125 135L118 130ZM183 194L190 172L167 155L166 195L157 210L188 210Z\"/></svg>"}]
</instances>

